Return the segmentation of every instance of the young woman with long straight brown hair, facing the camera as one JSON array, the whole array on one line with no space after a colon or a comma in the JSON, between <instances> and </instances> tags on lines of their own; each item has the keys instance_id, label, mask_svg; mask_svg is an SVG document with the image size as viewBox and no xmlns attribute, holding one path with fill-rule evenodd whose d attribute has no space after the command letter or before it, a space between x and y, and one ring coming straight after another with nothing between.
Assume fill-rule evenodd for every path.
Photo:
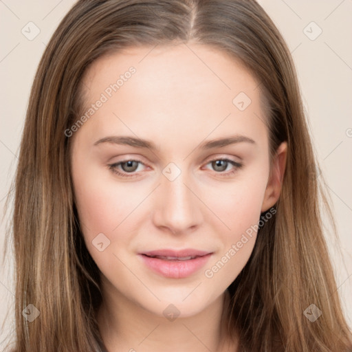
<instances>
[{"instance_id":1,"label":"young woman with long straight brown hair, facing the camera","mask_svg":"<svg viewBox=\"0 0 352 352\"><path fill-rule=\"evenodd\" d=\"M14 351L352 351L315 165L255 1L78 1L23 131Z\"/></svg>"}]
</instances>

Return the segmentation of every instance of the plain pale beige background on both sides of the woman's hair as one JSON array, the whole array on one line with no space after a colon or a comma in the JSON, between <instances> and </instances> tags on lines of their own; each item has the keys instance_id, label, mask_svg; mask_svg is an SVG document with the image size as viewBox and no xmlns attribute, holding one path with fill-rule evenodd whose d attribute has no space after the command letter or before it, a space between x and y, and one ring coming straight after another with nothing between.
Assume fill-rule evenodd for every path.
<instances>
[{"instance_id":1,"label":"plain pale beige background on both sides of the woman's hair","mask_svg":"<svg viewBox=\"0 0 352 352\"><path fill-rule=\"evenodd\" d=\"M261 0L294 56L322 174L336 214L342 255L327 235L338 291L352 329L352 0ZM17 164L32 80L45 44L74 1L0 0L0 210ZM28 40L21 32L36 28ZM315 23L311 23L314 21ZM322 33L318 36L318 34ZM312 40L314 39L314 40ZM0 250L6 219L1 222ZM2 255L1 255L2 259ZM0 270L0 351L12 329L12 259ZM6 316L8 312L8 316Z\"/></svg>"}]
</instances>

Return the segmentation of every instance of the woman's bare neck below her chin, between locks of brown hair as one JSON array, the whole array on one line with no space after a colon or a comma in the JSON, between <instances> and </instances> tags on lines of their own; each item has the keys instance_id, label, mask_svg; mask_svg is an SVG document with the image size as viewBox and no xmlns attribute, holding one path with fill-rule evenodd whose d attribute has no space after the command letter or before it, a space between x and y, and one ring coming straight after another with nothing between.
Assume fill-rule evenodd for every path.
<instances>
[{"instance_id":1,"label":"woman's bare neck below her chin, between locks of brown hair","mask_svg":"<svg viewBox=\"0 0 352 352\"><path fill-rule=\"evenodd\" d=\"M198 314L170 321L115 292L104 296L98 325L109 352L155 352L161 347L168 352L236 351L234 337L227 333L229 300L226 290Z\"/></svg>"}]
</instances>

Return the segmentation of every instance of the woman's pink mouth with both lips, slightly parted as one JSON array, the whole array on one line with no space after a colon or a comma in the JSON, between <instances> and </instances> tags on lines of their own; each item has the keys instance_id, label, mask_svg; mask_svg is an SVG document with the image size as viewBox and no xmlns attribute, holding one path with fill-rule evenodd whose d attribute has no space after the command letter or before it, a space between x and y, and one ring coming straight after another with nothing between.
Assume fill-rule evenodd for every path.
<instances>
[{"instance_id":1,"label":"woman's pink mouth with both lips, slightly parted","mask_svg":"<svg viewBox=\"0 0 352 352\"><path fill-rule=\"evenodd\" d=\"M139 254L148 269L166 278L186 278L198 272L212 252L199 250L157 250Z\"/></svg>"}]
</instances>

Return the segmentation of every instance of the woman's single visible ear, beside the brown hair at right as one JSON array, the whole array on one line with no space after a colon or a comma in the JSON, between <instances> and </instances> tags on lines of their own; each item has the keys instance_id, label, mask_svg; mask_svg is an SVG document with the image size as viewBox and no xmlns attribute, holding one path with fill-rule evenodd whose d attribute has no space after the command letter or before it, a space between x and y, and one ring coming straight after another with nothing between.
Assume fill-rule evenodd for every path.
<instances>
[{"instance_id":1,"label":"woman's single visible ear, beside the brown hair at right","mask_svg":"<svg viewBox=\"0 0 352 352\"><path fill-rule=\"evenodd\" d=\"M287 142L282 142L276 150L276 154L272 160L267 188L265 189L261 212L270 209L280 196L281 186L283 184L283 175L285 173L287 158Z\"/></svg>"}]
</instances>

